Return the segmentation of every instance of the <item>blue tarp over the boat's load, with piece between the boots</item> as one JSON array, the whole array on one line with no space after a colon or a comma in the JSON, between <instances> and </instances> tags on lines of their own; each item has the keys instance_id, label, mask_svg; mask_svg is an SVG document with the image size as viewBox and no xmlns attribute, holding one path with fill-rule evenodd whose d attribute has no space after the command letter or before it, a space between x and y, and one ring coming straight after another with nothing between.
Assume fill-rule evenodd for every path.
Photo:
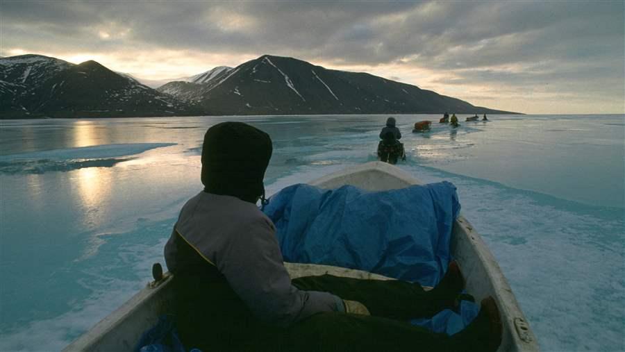
<instances>
[{"instance_id":1,"label":"blue tarp over the boat's load, with piece between the boots","mask_svg":"<svg viewBox=\"0 0 625 352\"><path fill-rule=\"evenodd\" d=\"M435 286L451 259L451 227L460 203L456 186L447 181L382 192L298 184L274 194L263 211L276 225L287 262L361 269ZM462 317L445 310L413 323L451 334L476 312L476 305L463 303Z\"/></svg>"}]
</instances>

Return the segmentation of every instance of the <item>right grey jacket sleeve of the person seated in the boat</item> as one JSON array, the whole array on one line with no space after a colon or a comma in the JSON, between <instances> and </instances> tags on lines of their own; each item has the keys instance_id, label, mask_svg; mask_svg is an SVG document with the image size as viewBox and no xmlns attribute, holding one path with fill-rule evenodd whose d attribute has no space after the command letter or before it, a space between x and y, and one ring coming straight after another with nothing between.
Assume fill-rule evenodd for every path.
<instances>
[{"instance_id":1,"label":"right grey jacket sleeve of the person seated in the boat","mask_svg":"<svg viewBox=\"0 0 625 352\"><path fill-rule=\"evenodd\" d=\"M317 312L341 309L338 296L291 285L274 228L267 220L258 219L244 228L219 255L217 268L256 317L289 326Z\"/></svg>"}]
</instances>

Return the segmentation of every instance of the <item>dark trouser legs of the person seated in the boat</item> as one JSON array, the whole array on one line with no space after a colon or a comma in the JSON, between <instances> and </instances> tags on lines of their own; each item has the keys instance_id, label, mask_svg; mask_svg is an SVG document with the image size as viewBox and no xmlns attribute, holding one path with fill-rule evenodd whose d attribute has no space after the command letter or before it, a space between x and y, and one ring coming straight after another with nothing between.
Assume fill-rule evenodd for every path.
<instances>
[{"instance_id":1,"label":"dark trouser legs of the person seated in the boat","mask_svg":"<svg viewBox=\"0 0 625 352\"><path fill-rule=\"evenodd\" d=\"M321 313L290 328L294 351L462 351L447 334L413 326L408 319L440 311L440 292L399 280L360 280L331 275L293 280L301 290L331 292L359 301L371 316Z\"/></svg>"}]
</instances>

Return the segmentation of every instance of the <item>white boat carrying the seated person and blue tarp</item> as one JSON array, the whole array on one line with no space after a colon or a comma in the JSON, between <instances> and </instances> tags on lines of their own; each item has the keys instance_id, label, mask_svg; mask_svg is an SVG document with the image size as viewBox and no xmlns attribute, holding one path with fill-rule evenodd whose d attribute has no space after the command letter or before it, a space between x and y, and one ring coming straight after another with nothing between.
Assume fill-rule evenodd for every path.
<instances>
[{"instance_id":1,"label":"white boat carrying the seated person and blue tarp","mask_svg":"<svg viewBox=\"0 0 625 352\"><path fill-rule=\"evenodd\" d=\"M392 190L417 184L420 183L415 178L385 162L349 167L310 182L310 185L326 189L355 185L365 190ZM462 268L467 292L475 297L476 302L486 296L492 296L497 301L503 322L503 337L498 351L538 351L536 338L497 261L473 226L462 216L453 225L451 253ZM292 278L327 273L385 279L365 271L326 265L285 265ZM171 282L172 276L165 273L162 280L147 285L63 351L132 351L141 334L156 324L161 314L171 311Z\"/></svg>"}]
</instances>

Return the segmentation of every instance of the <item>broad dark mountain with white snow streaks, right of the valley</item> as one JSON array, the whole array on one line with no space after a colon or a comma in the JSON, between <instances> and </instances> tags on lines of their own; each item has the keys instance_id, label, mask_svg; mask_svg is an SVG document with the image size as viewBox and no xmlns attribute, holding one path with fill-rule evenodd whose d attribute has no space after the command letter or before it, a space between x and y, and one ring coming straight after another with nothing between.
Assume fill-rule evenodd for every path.
<instances>
[{"instance_id":1,"label":"broad dark mountain with white snow streaks, right of the valley","mask_svg":"<svg viewBox=\"0 0 625 352\"><path fill-rule=\"evenodd\" d=\"M497 113L372 74L344 72L263 55L203 84L159 87L215 115Z\"/></svg>"}]
</instances>

